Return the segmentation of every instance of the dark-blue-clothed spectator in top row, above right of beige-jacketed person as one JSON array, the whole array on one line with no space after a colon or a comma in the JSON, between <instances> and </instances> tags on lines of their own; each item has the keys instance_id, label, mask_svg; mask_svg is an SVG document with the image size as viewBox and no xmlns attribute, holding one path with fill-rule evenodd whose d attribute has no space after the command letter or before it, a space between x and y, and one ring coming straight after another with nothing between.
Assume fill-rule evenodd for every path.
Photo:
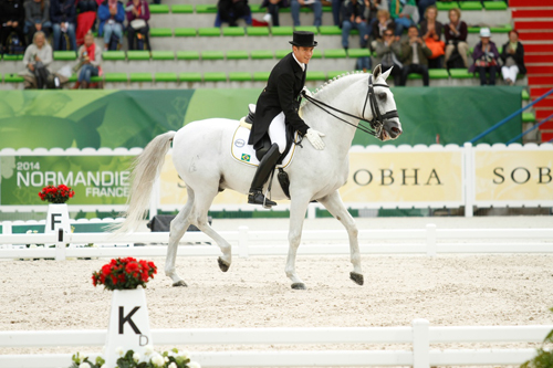
<instances>
[{"instance_id":1,"label":"dark-blue-clothed spectator in top row, above right of beige-jacketed person","mask_svg":"<svg viewBox=\"0 0 553 368\"><path fill-rule=\"evenodd\" d=\"M52 21L54 51L74 50L76 51L76 6L74 0L51 0L50 20ZM69 45L62 48L62 36L69 38Z\"/></svg>"}]
</instances>

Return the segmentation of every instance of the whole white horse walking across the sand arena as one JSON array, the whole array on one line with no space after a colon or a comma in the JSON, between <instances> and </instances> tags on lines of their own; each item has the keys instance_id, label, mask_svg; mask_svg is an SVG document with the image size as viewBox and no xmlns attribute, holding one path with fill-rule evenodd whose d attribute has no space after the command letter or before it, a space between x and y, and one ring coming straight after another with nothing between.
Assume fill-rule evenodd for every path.
<instances>
[{"instance_id":1,"label":"whole white horse walking across the sand arena","mask_svg":"<svg viewBox=\"0 0 553 368\"><path fill-rule=\"evenodd\" d=\"M302 147L295 149L294 159L285 169L290 177L291 197L290 249L285 273L292 281L292 288L305 288L295 272L295 256L305 212L313 200L323 204L346 228L353 263L349 277L363 285L358 231L342 202L338 189L347 179L348 151L359 119L372 120L376 115L380 117L380 122L371 122L371 125L372 134L382 140L395 139L401 134L396 103L386 84L389 72L390 70L382 73L380 65L377 65L373 75L357 73L335 78L326 83L302 107L305 123L326 135L326 147L316 150L304 140ZM316 106L317 102L322 106ZM341 111L330 106L338 106ZM331 114L328 107L333 109ZM380 115L380 111L386 114ZM231 245L209 225L208 210L218 192L232 189L243 193L246 201L250 189L255 168L238 162L229 153L238 124L237 120L225 118L189 123L178 132L155 137L136 158L126 219L118 227L118 233L136 229L144 219L153 183L159 175L171 141L173 164L186 182L188 201L170 223L165 264L165 273L171 277L174 286L187 286L175 270L175 259L178 243L190 224L204 231L220 246L222 255L218 262L223 272L231 264ZM271 198L286 199L276 178L273 180Z\"/></svg>"}]
</instances>

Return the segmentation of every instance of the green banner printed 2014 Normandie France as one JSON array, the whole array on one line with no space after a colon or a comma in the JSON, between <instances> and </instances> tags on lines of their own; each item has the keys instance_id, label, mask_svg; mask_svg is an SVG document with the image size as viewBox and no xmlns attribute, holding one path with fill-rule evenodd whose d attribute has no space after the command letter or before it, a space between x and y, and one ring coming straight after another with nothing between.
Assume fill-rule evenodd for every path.
<instances>
[{"instance_id":1,"label":"green banner printed 2014 Normandie France","mask_svg":"<svg viewBox=\"0 0 553 368\"><path fill-rule=\"evenodd\" d=\"M39 192L64 183L70 204L125 204L134 156L1 156L0 204L44 204Z\"/></svg>"}]
</instances>

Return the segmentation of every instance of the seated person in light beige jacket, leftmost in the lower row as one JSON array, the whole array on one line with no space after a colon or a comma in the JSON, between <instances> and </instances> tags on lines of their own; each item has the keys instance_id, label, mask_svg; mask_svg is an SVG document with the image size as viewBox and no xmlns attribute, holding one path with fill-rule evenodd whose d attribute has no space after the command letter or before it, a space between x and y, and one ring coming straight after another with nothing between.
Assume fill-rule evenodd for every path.
<instances>
[{"instance_id":1,"label":"seated person in light beige jacket, leftmost in the lower row","mask_svg":"<svg viewBox=\"0 0 553 368\"><path fill-rule=\"evenodd\" d=\"M48 44L44 32L34 32L33 42L27 48L23 56L23 65L27 67L23 72L25 90L45 88L50 74L48 66L52 63L52 48Z\"/></svg>"}]
</instances>

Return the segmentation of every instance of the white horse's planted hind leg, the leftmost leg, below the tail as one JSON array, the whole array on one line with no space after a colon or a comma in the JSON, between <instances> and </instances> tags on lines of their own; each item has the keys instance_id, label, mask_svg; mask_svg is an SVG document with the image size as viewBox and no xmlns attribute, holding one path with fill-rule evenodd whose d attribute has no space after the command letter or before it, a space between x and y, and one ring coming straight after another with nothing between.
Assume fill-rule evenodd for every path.
<instances>
[{"instance_id":1,"label":"white horse's planted hind leg, the leftmost leg, below the tail","mask_svg":"<svg viewBox=\"0 0 553 368\"><path fill-rule=\"evenodd\" d=\"M173 286L187 286L185 281L180 278L175 269L175 260L177 257L178 242L190 225L190 212L194 208L194 190L187 187L188 201L185 207L173 219L169 232L169 246L167 246L167 257L165 260L165 274L173 280Z\"/></svg>"}]
</instances>

